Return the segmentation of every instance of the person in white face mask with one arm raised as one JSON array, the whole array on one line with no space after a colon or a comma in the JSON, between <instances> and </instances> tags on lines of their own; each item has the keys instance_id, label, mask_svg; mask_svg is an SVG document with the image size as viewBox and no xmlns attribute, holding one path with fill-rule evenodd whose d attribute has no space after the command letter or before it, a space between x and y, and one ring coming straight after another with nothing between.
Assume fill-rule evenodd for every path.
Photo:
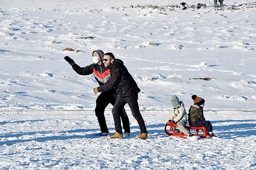
<instances>
[{"instance_id":1,"label":"person in white face mask with one arm raised","mask_svg":"<svg viewBox=\"0 0 256 170\"><path fill-rule=\"evenodd\" d=\"M64 59L72 66L73 70L79 75L90 75L93 74L96 81L99 83L100 86L104 85L110 78L110 70L106 68L103 64L103 51L96 50L93 52L93 64L87 65L85 67L80 67L79 65L75 64L74 60L71 59L69 56L64 57ZM109 103L112 106L115 105L117 99L117 94L115 89L108 89L106 92L101 93L97 100L96 100L96 108L95 114L98 118L98 122L100 124L101 132L96 134L99 136L106 136L109 135L109 131L106 125L106 119L104 116L104 111L106 106ZM125 129L125 135L130 136L130 123L129 118L125 112L124 107L120 108L120 117L122 118L123 126Z\"/></svg>"}]
</instances>

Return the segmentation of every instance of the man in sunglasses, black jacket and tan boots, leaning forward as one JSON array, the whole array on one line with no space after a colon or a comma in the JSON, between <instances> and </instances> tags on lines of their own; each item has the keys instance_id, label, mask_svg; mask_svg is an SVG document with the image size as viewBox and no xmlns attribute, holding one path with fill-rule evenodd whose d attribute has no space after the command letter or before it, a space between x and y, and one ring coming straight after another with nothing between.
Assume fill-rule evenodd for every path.
<instances>
[{"instance_id":1,"label":"man in sunglasses, black jacket and tan boots, leaning forward","mask_svg":"<svg viewBox=\"0 0 256 170\"><path fill-rule=\"evenodd\" d=\"M131 108L132 116L137 120L140 127L140 135L138 138L147 139L148 132L144 123L144 119L141 116L138 106L138 93L140 89L137 83L132 78L131 74L128 72L124 65L124 62L120 59L115 59L112 53L106 53L103 57L104 65L109 68L111 73L111 78L108 82L98 88L94 88L94 93L105 92L114 88L118 94L116 103L112 108L112 114L115 122L116 133L111 136L111 138L122 138L122 127L120 121L120 108L123 108L127 103Z\"/></svg>"}]
</instances>

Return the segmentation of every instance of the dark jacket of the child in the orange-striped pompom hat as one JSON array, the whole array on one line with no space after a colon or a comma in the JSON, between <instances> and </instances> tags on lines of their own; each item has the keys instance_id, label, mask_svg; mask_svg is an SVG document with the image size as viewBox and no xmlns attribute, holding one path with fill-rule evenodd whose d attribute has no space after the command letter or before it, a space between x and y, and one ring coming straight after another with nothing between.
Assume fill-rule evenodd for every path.
<instances>
[{"instance_id":1,"label":"dark jacket of the child in the orange-striped pompom hat","mask_svg":"<svg viewBox=\"0 0 256 170\"><path fill-rule=\"evenodd\" d=\"M193 123L205 121L203 107L197 104L191 105L188 111L188 123L191 126Z\"/></svg>"}]
</instances>

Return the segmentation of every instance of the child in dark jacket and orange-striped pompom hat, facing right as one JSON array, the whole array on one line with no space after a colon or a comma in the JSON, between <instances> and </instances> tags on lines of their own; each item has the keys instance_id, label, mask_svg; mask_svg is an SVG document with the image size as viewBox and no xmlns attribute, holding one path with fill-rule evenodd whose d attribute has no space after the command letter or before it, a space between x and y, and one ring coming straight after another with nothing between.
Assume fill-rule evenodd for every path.
<instances>
[{"instance_id":1,"label":"child in dark jacket and orange-striped pompom hat, facing right","mask_svg":"<svg viewBox=\"0 0 256 170\"><path fill-rule=\"evenodd\" d=\"M203 107L205 106L205 100L192 95L192 99L194 100L194 105L191 105L188 113L188 124L193 127L201 127L205 126L207 130L207 135L216 137L212 132L212 123L205 119Z\"/></svg>"}]
</instances>

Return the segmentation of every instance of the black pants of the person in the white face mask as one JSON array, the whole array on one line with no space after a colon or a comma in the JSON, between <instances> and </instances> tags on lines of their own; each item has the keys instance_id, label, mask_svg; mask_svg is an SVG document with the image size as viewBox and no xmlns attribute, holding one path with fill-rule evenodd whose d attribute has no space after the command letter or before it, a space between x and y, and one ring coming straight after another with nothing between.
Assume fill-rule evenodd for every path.
<instances>
[{"instance_id":1,"label":"black pants of the person in the white face mask","mask_svg":"<svg viewBox=\"0 0 256 170\"><path fill-rule=\"evenodd\" d=\"M96 100L95 114L96 114L96 117L98 118L98 122L100 124L100 130L102 132L109 133L107 126L106 126L106 119L104 116L104 111L105 111L106 106L108 106L109 103L111 103L112 106L115 105L117 96L118 96L117 94L106 94L103 92L98 96L98 98ZM129 122L129 118L125 112L124 106L119 108L119 113L120 113L120 117L123 122L125 132L130 133L130 122Z\"/></svg>"}]
</instances>

